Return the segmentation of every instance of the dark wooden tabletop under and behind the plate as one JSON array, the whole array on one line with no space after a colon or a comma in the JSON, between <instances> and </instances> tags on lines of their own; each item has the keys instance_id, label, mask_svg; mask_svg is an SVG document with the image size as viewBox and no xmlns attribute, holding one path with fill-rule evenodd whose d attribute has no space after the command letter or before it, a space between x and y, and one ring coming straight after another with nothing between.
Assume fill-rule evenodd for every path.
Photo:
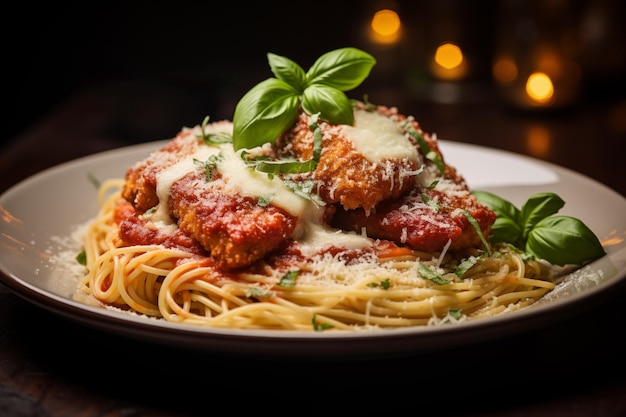
<instances>
[{"instance_id":1,"label":"dark wooden tabletop under and behind the plate","mask_svg":"<svg viewBox=\"0 0 626 417\"><path fill-rule=\"evenodd\" d=\"M435 104L381 90L372 98L398 104L439 137L551 161L626 195L626 101L619 98L547 114L510 109L493 96ZM188 116L202 109L196 98L160 84L82 90L4 145L0 191L70 159L170 137L199 122ZM0 286L0 415L170 417L221 409L624 416L625 301L621 285L512 336L403 357L313 361L127 339L51 314Z\"/></svg>"}]
</instances>

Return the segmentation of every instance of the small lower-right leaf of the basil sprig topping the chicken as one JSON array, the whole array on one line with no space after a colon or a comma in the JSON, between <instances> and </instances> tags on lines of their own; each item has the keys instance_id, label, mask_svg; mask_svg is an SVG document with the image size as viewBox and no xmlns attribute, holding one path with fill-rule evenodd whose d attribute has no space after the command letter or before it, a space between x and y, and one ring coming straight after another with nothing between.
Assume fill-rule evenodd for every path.
<instances>
[{"instance_id":1,"label":"small lower-right leaf of the basil sprig topping the chicken","mask_svg":"<svg viewBox=\"0 0 626 417\"><path fill-rule=\"evenodd\" d=\"M316 84L304 90L302 108L308 114L319 113L319 118L333 124L354 123L354 112L348 97L333 87Z\"/></svg>"}]
</instances>

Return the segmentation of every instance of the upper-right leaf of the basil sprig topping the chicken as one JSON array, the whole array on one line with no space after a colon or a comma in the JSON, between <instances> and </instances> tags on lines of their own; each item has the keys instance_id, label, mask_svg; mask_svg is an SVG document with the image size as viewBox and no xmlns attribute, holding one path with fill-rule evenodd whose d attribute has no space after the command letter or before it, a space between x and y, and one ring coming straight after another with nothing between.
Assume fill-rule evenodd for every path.
<instances>
[{"instance_id":1,"label":"upper-right leaf of the basil sprig topping the chicken","mask_svg":"<svg viewBox=\"0 0 626 417\"><path fill-rule=\"evenodd\" d=\"M306 73L308 84L324 84L341 91L359 86L370 74L376 59L356 48L340 48L320 56Z\"/></svg>"}]
</instances>

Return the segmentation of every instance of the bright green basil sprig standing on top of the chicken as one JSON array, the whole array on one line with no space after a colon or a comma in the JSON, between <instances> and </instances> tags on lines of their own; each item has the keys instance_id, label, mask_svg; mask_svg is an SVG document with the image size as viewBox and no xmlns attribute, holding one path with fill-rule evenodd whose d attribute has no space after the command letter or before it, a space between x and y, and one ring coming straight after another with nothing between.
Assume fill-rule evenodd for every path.
<instances>
[{"instance_id":1,"label":"bright green basil sprig standing on top of the chicken","mask_svg":"<svg viewBox=\"0 0 626 417\"><path fill-rule=\"evenodd\" d=\"M320 56L305 73L289 58L268 53L275 78L252 87L233 115L233 147L254 148L273 142L295 123L300 106L333 124L354 123L345 91L359 86L376 60L357 48L340 48Z\"/></svg>"}]
</instances>

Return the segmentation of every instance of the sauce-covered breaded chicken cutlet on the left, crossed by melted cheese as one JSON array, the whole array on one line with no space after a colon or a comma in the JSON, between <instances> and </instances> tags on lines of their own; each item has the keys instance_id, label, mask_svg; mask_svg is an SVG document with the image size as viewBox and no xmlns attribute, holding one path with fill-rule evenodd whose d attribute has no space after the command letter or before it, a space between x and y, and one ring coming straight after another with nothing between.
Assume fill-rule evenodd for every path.
<instances>
[{"instance_id":1,"label":"sauce-covered breaded chicken cutlet on the left, crossed by melted cheese","mask_svg":"<svg viewBox=\"0 0 626 417\"><path fill-rule=\"evenodd\" d=\"M225 131L231 126L218 123L209 130ZM150 210L154 220L175 222L220 267L233 269L261 259L291 237L297 217L246 196L233 178L211 169L208 173L210 165L204 159L219 159L218 155L220 148L202 145L202 138L184 130L127 171L122 196L138 215ZM242 165L240 170L246 168ZM125 224L121 229L133 230Z\"/></svg>"}]
</instances>

